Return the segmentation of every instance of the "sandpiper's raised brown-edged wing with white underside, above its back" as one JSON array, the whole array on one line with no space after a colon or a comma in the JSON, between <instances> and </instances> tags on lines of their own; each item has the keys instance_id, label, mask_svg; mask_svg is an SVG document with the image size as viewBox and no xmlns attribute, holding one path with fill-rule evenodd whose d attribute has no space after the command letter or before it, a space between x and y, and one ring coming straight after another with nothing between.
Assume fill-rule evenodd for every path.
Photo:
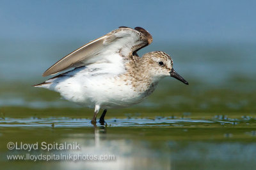
<instances>
[{"instance_id":1,"label":"sandpiper's raised brown-edged wing with white underside, above its back","mask_svg":"<svg viewBox=\"0 0 256 170\"><path fill-rule=\"evenodd\" d=\"M92 63L117 63L131 58L138 50L152 43L152 36L142 27L119 27L110 33L74 50L48 68L43 76L61 72L68 68ZM122 61L122 62L120 62Z\"/></svg>"}]
</instances>

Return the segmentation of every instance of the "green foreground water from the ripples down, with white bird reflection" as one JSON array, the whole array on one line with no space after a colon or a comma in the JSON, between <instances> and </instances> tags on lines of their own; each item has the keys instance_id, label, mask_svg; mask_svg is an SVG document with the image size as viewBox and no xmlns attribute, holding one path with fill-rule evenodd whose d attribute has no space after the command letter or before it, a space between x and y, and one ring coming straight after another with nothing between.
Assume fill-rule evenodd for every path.
<instances>
[{"instance_id":1,"label":"green foreground water from the ripples down, with white bird reflection","mask_svg":"<svg viewBox=\"0 0 256 170\"><path fill-rule=\"evenodd\" d=\"M5 108L8 110L8 108ZM12 111L21 108L12 107ZM31 169L253 169L256 166L256 118L208 114L108 118L94 127L90 119L29 114L0 120L1 165ZM63 111L61 109L61 111ZM57 112L55 110L55 112ZM56 114L57 115L57 114ZM167 115L167 114L166 114ZM201 115L201 114L199 114ZM10 116L10 114L9 114ZM20 118L19 118L20 117ZM9 142L79 143L79 150L8 150ZM114 160L6 160L7 155L114 155ZM44 165L44 166L42 166Z\"/></svg>"}]
</instances>

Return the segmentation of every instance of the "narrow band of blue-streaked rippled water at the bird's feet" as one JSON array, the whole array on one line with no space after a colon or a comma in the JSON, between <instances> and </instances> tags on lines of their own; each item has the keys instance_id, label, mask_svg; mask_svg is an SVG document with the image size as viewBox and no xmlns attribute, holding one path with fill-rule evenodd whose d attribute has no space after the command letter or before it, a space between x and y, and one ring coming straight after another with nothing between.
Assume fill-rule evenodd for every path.
<instances>
[{"instance_id":1,"label":"narrow band of blue-streaked rippled water at the bird's feet","mask_svg":"<svg viewBox=\"0 0 256 170\"><path fill-rule=\"evenodd\" d=\"M218 117L217 117L218 118ZM129 119L108 119L106 125L100 127L212 127L234 125L253 127L256 123L256 118L244 120L238 119L214 119L214 120L191 120L190 118L174 119L156 117L153 119L147 118L129 118ZM92 127L92 123L88 119L71 119L71 118L4 118L0 121L0 127Z\"/></svg>"}]
</instances>

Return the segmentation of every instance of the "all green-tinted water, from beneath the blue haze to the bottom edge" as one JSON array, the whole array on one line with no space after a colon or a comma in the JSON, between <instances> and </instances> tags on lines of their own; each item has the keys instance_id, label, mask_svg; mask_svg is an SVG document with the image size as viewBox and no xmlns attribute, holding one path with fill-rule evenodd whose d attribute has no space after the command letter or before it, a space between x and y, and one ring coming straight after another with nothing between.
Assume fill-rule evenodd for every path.
<instances>
[{"instance_id":1,"label":"all green-tinted water, from beneath the blue haze to the bottom edge","mask_svg":"<svg viewBox=\"0 0 256 170\"><path fill-rule=\"evenodd\" d=\"M256 91L255 82L248 82L239 79L236 86L224 84L220 88L193 81L183 86L165 79L145 102L125 109L109 109L107 124L98 123L97 127L90 123L92 110L61 100L58 93L32 88L28 86L30 82L3 85L1 95L6 100L2 102L9 104L0 108L1 166L9 169L253 169L256 166ZM241 90L241 86L246 88ZM81 149L8 150L9 142L79 143ZM7 160L7 155L27 153L109 154L115 160Z\"/></svg>"}]
</instances>

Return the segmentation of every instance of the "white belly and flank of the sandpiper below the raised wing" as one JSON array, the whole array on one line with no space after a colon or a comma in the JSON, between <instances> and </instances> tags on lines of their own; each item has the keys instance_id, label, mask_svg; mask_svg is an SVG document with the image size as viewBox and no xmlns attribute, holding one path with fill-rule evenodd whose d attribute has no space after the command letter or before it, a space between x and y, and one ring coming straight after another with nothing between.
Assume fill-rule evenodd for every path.
<instances>
[{"instance_id":1,"label":"white belly and flank of the sandpiper below the raised wing","mask_svg":"<svg viewBox=\"0 0 256 170\"><path fill-rule=\"evenodd\" d=\"M124 81L111 70L106 71L102 68L111 66L98 64L77 68L68 72L66 76L46 81L51 84L41 87L58 91L66 100L89 108L94 108L95 105L104 109L127 107L147 97L145 93L134 91L131 82Z\"/></svg>"}]
</instances>

